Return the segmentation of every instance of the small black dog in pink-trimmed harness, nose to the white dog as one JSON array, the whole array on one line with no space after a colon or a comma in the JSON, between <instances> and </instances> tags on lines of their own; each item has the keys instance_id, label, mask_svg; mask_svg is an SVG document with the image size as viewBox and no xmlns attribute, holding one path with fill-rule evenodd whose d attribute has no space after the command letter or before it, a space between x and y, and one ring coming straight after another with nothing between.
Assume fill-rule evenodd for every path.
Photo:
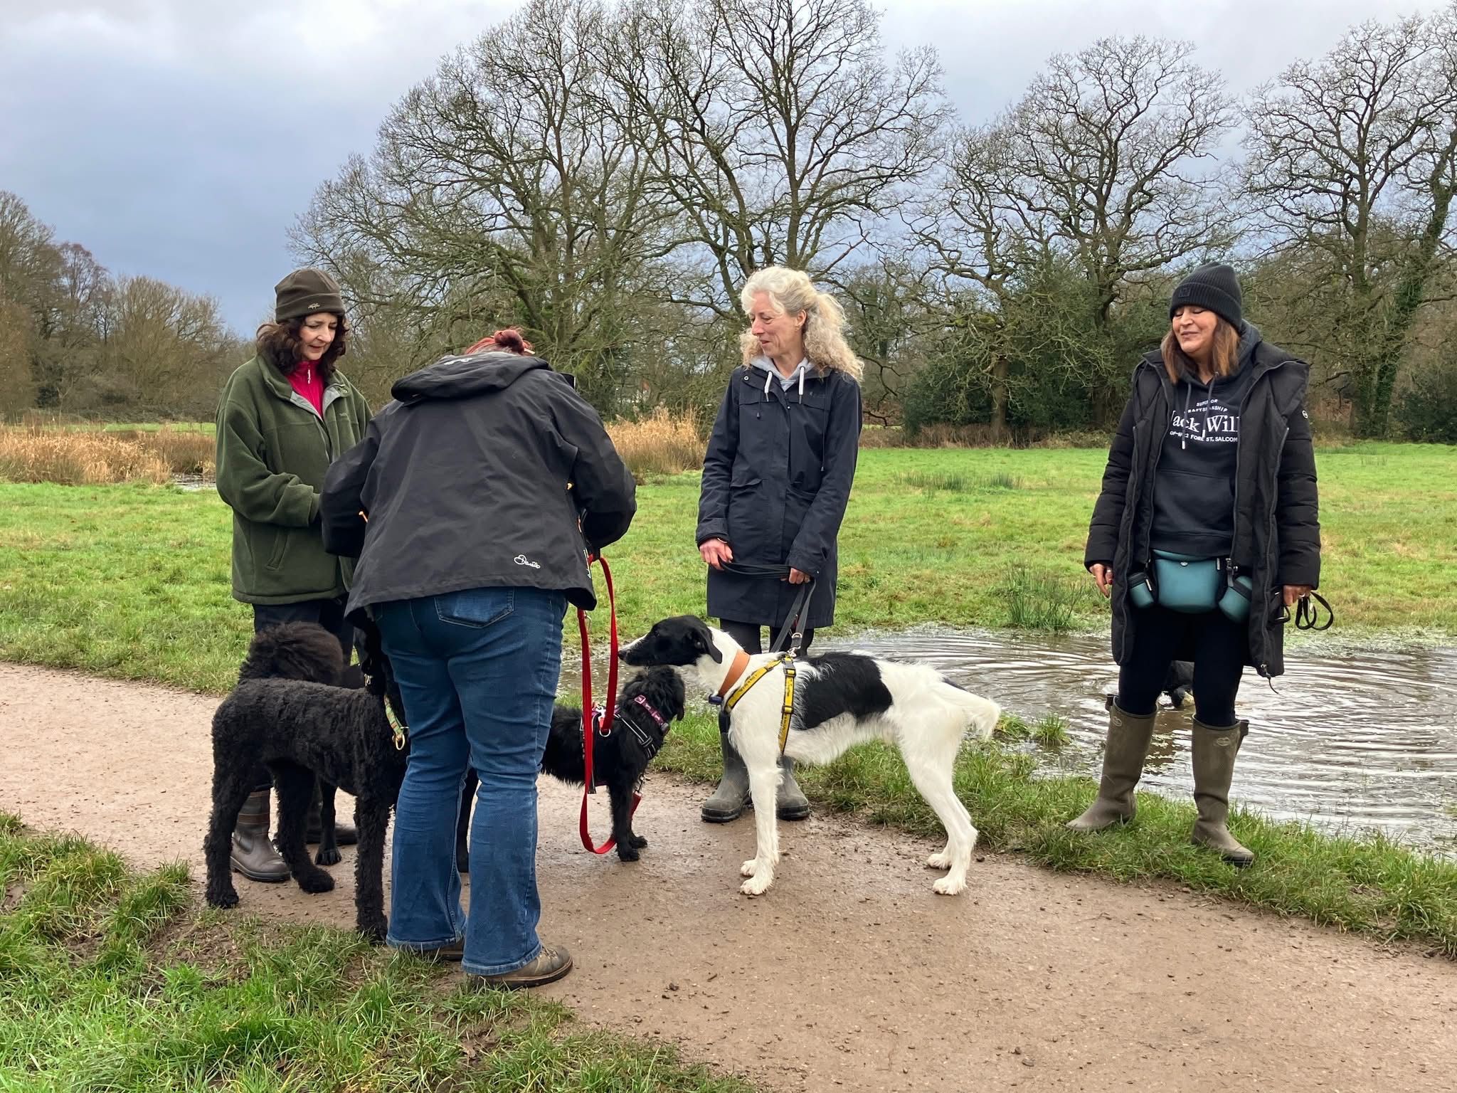
<instances>
[{"instance_id":1,"label":"small black dog in pink-trimmed harness, nose to the white dog","mask_svg":"<svg viewBox=\"0 0 1457 1093\"><path fill-rule=\"evenodd\" d=\"M650 667L622 683L618 694L616 718L608 736L597 733L592 745L592 774L597 786L608 788L612 804L612 837L618 841L618 857L637 861L647 839L632 831L632 794L643 784L647 765L667 737L672 721L683 720L683 681L670 667ZM586 761L581 751L581 710L558 705L551 716L551 734L542 755L542 774L549 774L574 786L586 781ZM460 793L460 818L456 823L456 866L471 870L466 835L471 829L471 803L478 781L475 771L466 771Z\"/></svg>"}]
</instances>

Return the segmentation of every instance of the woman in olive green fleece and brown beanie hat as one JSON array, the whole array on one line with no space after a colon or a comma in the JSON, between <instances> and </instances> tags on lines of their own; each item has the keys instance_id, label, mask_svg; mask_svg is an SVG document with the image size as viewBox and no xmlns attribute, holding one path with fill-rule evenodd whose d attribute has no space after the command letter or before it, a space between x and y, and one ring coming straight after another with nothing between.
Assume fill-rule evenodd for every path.
<instances>
[{"instance_id":1,"label":"woman in olive green fleece and brown beanie hat","mask_svg":"<svg viewBox=\"0 0 1457 1093\"><path fill-rule=\"evenodd\" d=\"M233 510L233 598L254 608L254 632L318 622L337 634L344 663L354 628L344 619L353 563L325 552L319 487L329 463L364 436L364 396L335 363L347 328L339 286L322 270L296 270L274 289L274 322L258 328L258 356L235 372L217 405L217 493ZM237 816L233 869L287 880L268 841L268 772ZM322 835L318 804L309 841ZM354 831L335 826L338 842Z\"/></svg>"}]
</instances>

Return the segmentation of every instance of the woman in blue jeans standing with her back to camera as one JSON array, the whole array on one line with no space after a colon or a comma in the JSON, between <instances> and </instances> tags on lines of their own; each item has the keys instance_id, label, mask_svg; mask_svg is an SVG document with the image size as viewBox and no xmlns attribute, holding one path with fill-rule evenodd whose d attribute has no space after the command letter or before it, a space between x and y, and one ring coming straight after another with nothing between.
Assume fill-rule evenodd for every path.
<instances>
[{"instance_id":1,"label":"woman in blue jeans standing with her back to camera","mask_svg":"<svg viewBox=\"0 0 1457 1093\"><path fill-rule=\"evenodd\" d=\"M571 969L536 934L536 777L567 605L596 606L587 555L637 509L596 411L527 348L497 331L401 379L323 488L325 542L358 557L350 612L379 627L409 732L388 943L497 987ZM468 767L479 788L462 914Z\"/></svg>"}]
</instances>

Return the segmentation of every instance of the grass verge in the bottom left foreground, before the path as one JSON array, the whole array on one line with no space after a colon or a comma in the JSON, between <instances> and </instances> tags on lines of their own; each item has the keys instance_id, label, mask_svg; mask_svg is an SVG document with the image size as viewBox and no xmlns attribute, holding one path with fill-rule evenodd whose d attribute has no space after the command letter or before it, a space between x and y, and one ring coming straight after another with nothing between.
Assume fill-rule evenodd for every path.
<instances>
[{"instance_id":1,"label":"grass verge in the bottom left foreground, before the path","mask_svg":"<svg viewBox=\"0 0 1457 1093\"><path fill-rule=\"evenodd\" d=\"M740 1093L673 1048L319 927L226 922L186 870L0 813L0 1090Z\"/></svg>"}]
</instances>

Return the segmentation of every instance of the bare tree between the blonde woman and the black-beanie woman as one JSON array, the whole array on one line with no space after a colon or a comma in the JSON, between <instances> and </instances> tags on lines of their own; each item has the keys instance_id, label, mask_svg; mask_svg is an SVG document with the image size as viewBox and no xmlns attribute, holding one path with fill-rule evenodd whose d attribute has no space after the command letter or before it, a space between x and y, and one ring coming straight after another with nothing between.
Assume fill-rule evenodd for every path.
<instances>
[{"instance_id":1,"label":"bare tree between the blonde woman and the black-beanie woman","mask_svg":"<svg viewBox=\"0 0 1457 1093\"><path fill-rule=\"evenodd\" d=\"M908 217L994 433L1018 391L1048 383L1091 386L1099 415L1110 412L1126 369L1118 309L1147 297L1151 275L1233 240L1205 165L1233 124L1230 99L1190 52L1106 38L1053 57L995 122L953 136Z\"/></svg>"}]
</instances>

